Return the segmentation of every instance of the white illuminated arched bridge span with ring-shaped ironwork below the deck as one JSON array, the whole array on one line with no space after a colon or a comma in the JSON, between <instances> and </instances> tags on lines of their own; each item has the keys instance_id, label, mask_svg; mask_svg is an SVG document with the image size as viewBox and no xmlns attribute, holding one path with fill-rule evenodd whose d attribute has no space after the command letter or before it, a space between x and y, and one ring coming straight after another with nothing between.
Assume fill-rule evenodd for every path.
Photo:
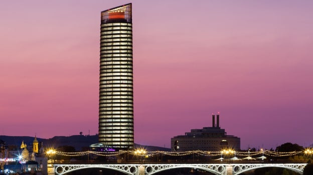
<instances>
[{"instance_id":1,"label":"white illuminated arched bridge span with ring-shaped ironwork below the deck","mask_svg":"<svg viewBox=\"0 0 313 175\"><path fill-rule=\"evenodd\" d=\"M306 163L108 163L108 164L48 164L49 175L62 175L84 168L107 168L127 175L152 175L173 168L195 168L216 175L237 175L242 172L262 167L282 167L303 174Z\"/></svg>"}]
</instances>

